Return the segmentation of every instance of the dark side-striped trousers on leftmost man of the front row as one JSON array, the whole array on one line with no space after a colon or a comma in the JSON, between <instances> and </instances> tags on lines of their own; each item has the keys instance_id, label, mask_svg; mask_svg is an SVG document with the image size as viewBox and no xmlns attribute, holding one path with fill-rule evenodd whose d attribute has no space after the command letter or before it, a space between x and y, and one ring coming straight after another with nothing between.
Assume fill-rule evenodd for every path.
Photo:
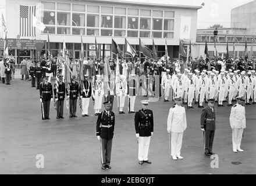
<instances>
[{"instance_id":1,"label":"dark side-striped trousers on leftmost man of the front row","mask_svg":"<svg viewBox=\"0 0 256 186\"><path fill-rule=\"evenodd\" d=\"M109 165L111 160L112 139L104 140L101 138L101 164Z\"/></svg>"}]
</instances>

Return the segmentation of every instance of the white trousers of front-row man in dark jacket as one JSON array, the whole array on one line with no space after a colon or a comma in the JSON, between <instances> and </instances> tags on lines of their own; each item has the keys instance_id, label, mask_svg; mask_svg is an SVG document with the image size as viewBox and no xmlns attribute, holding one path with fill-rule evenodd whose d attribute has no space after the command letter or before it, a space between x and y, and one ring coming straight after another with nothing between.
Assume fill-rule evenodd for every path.
<instances>
[{"instance_id":1,"label":"white trousers of front-row man in dark jacket","mask_svg":"<svg viewBox=\"0 0 256 186\"><path fill-rule=\"evenodd\" d=\"M148 149L150 148L150 137L138 137L138 160L148 160Z\"/></svg>"}]
</instances>

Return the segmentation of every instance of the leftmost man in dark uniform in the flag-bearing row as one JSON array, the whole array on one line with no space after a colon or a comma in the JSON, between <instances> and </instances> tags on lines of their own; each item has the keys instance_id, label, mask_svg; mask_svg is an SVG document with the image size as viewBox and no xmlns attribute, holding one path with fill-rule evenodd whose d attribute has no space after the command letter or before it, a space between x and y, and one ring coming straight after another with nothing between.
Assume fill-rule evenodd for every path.
<instances>
[{"instance_id":1,"label":"leftmost man in dark uniform in the flag-bearing row","mask_svg":"<svg viewBox=\"0 0 256 186\"><path fill-rule=\"evenodd\" d=\"M48 77L45 76L40 84L40 101L42 108L42 120L49 120L50 103L52 101L52 84L48 83Z\"/></svg>"}]
</instances>

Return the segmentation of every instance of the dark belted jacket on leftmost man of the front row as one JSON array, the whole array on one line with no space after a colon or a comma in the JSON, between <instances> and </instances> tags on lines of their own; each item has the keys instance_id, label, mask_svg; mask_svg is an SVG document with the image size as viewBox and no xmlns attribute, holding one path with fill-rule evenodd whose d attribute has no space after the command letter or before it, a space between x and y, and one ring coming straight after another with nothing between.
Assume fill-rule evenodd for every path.
<instances>
[{"instance_id":1,"label":"dark belted jacket on leftmost man of the front row","mask_svg":"<svg viewBox=\"0 0 256 186\"><path fill-rule=\"evenodd\" d=\"M102 127L102 126L111 126L112 127ZM115 129L115 113L109 110L108 112L104 110L98 115L98 120L96 124L96 135L100 136L104 140L111 140L114 135Z\"/></svg>"}]
</instances>

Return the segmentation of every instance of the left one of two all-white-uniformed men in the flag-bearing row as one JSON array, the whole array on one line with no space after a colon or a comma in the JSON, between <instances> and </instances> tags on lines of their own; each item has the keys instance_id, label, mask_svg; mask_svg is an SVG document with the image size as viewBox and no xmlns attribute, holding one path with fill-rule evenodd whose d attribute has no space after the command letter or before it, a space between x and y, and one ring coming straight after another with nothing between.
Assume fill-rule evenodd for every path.
<instances>
[{"instance_id":1,"label":"left one of two all-white-uniformed men in the flag-bearing row","mask_svg":"<svg viewBox=\"0 0 256 186\"><path fill-rule=\"evenodd\" d=\"M102 106L102 99L104 95L104 85L101 81L101 75L97 74L96 75L96 81L94 85L94 111L95 111L95 116L98 116L101 110Z\"/></svg>"}]
</instances>

